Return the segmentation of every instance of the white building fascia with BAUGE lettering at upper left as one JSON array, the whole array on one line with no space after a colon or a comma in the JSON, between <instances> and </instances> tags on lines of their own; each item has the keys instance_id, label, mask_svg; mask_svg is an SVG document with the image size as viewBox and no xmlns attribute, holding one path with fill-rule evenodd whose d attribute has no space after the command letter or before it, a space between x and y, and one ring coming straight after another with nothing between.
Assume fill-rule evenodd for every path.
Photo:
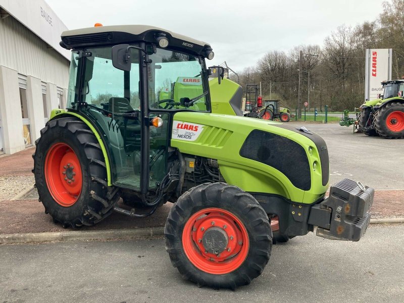
<instances>
[{"instance_id":1,"label":"white building fascia with BAUGE lettering at upper left","mask_svg":"<svg viewBox=\"0 0 404 303\"><path fill-rule=\"evenodd\" d=\"M70 51L59 45L68 28L44 0L0 0L0 7L70 61Z\"/></svg>"}]
</instances>

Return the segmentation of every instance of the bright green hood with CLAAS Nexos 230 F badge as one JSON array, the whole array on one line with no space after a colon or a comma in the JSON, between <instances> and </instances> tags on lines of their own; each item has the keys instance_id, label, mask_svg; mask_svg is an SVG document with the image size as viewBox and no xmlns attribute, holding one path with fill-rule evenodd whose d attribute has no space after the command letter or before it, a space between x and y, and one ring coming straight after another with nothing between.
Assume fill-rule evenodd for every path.
<instances>
[{"instance_id":1,"label":"bright green hood with CLAAS Nexos 230 F badge","mask_svg":"<svg viewBox=\"0 0 404 303\"><path fill-rule=\"evenodd\" d=\"M173 120L171 146L184 154L217 159L225 180L246 191L263 192L280 182L274 186L284 188L279 194L297 201L294 194L302 199L310 191L320 197L328 187L327 145L306 128L213 113L178 112ZM260 172L249 174L251 170ZM258 174L263 177L257 182L246 182ZM313 203L313 196L307 198Z\"/></svg>"}]
</instances>

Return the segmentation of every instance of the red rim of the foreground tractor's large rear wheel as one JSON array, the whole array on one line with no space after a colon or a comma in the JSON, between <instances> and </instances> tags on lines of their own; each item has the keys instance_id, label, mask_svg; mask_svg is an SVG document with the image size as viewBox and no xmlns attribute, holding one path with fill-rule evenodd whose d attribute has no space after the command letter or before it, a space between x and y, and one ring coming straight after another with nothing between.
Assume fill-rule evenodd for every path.
<instances>
[{"instance_id":1,"label":"red rim of the foreground tractor's large rear wheel","mask_svg":"<svg viewBox=\"0 0 404 303\"><path fill-rule=\"evenodd\" d=\"M55 201L64 207L76 203L82 186L79 159L65 143L55 143L45 158L45 181Z\"/></svg>"}]
</instances>

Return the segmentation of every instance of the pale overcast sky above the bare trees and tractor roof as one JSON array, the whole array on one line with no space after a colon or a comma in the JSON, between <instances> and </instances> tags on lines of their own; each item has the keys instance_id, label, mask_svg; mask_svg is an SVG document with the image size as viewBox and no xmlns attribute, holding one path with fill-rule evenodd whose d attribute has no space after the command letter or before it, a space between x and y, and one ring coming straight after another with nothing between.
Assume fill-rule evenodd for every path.
<instances>
[{"instance_id":1,"label":"pale overcast sky above the bare trees and tractor roof","mask_svg":"<svg viewBox=\"0 0 404 303\"><path fill-rule=\"evenodd\" d=\"M212 45L215 58L239 71L268 51L320 44L341 24L373 21L381 0L46 0L69 29L147 24Z\"/></svg>"}]
</instances>

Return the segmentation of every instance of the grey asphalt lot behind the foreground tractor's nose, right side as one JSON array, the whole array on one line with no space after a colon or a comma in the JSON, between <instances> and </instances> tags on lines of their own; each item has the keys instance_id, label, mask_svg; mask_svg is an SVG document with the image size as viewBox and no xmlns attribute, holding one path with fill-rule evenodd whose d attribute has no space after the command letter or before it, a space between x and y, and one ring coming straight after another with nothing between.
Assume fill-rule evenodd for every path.
<instances>
[{"instance_id":1,"label":"grey asphalt lot behind the foreground tractor's nose, right side","mask_svg":"<svg viewBox=\"0 0 404 303\"><path fill-rule=\"evenodd\" d=\"M326 141L331 185L349 178L375 189L404 189L404 139L370 137L337 123L290 124L304 125Z\"/></svg>"}]
</instances>

